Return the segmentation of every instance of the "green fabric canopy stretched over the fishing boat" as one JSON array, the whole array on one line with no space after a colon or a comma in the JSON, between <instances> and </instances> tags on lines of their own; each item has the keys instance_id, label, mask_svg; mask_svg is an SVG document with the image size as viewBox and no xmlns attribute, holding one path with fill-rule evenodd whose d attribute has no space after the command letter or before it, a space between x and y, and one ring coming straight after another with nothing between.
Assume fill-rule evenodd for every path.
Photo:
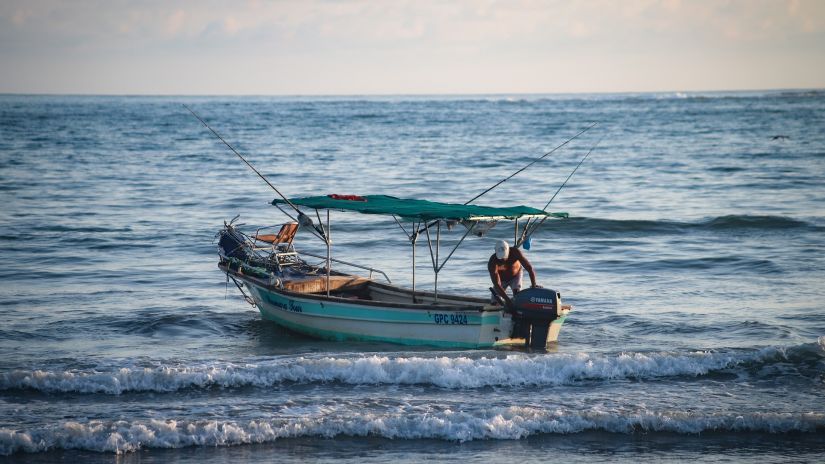
<instances>
[{"instance_id":1,"label":"green fabric canopy stretched over the fishing boat","mask_svg":"<svg viewBox=\"0 0 825 464\"><path fill-rule=\"evenodd\" d=\"M356 211L363 214L383 214L399 216L409 220L433 221L437 219L467 220L467 221L495 221L502 219L566 218L567 213L548 213L529 206L510 206L498 208L492 206L462 205L458 203L439 203L427 200L410 198L396 198L388 195L323 195L315 197L290 198L294 205L306 206L314 209L332 209L340 211ZM273 205L286 204L286 201L276 198Z\"/></svg>"}]
</instances>

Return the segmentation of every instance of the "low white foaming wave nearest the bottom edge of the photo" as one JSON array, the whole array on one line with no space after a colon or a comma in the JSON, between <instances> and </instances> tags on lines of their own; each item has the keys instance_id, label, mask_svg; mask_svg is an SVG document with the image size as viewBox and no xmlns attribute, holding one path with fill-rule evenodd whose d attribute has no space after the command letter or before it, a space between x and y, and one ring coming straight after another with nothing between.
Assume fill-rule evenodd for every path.
<instances>
[{"instance_id":1,"label":"low white foaming wave nearest the bottom edge of the photo","mask_svg":"<svg viewBox=\"0 0 825 464\"><path fill-rule=\"evenodd\" d=\"M536 434L668 432L809 432L825 430L825 414L624 413L530 407L495 408L475 414L455 411L368 414L328 411L301 417L252 421L64 422L33 430L0 429L0 455L82 449L126 453L146 448L233 446L293 437L372 436L389 439L518 440Z\"/></svg>"}]
</instances>

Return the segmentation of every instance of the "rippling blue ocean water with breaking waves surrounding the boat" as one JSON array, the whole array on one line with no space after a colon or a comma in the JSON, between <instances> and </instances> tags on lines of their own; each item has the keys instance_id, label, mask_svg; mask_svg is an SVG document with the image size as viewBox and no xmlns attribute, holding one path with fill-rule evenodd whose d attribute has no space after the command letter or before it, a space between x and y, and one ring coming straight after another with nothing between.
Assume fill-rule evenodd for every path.
<instances>
[{"instance_id":1,"label":"rippling blue ocean water with breaking waves surrounding the boat","mask_svg":"<svg viewBox=\"0 0 825 464\"><path fill-rule=\"evenodd\" d=\"M558 344L334 343L262 321L214 236L286 218L184 103L290 196L464 202L597 122L477 201L542 207L600 141L550 205L570 218L527 252L574 305ZM822 462L823 128L822 91L0 96L0 461ZM486 296L512 235L465 241L439 289ZM333 212L332 237L410 285L392 219Z\"/></svg>"}]
</instances>

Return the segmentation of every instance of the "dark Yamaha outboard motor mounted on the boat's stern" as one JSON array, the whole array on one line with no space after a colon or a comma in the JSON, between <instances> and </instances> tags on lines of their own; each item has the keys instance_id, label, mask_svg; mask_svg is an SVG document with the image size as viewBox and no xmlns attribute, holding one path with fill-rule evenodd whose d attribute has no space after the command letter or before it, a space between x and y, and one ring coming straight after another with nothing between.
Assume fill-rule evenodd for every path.
<instances>
[{"instance_id":1,"label":"dark Yamaha outboard motor mounted on the boat's stern","mask_svg":"<svg viewBox=\"0 0 825 464\"><path fill-rule=\"evenodd\" d=\"M561 294L547 288L529 288L513 297L513 337L524 338L530 348L544 349L550 323L561 312Z\"/></svg>"}]
</instances>

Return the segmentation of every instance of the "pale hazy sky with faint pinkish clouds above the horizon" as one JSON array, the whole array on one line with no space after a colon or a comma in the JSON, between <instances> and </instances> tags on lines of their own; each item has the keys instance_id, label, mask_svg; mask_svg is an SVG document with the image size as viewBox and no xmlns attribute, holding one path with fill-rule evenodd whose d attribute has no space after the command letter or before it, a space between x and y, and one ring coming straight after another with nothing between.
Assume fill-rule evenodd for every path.
<instances>
[{"instance_id":1,"label":"pale hazy sky with faint pinkish clouds above the horizon","mask_svg":"<svg viewBox=\"0 0 825 464\"><path fill-rule=\"evenodd\" d=\"M825 0L0 0L0 93L825 88Z\"/></svg>"}]
</instances>

